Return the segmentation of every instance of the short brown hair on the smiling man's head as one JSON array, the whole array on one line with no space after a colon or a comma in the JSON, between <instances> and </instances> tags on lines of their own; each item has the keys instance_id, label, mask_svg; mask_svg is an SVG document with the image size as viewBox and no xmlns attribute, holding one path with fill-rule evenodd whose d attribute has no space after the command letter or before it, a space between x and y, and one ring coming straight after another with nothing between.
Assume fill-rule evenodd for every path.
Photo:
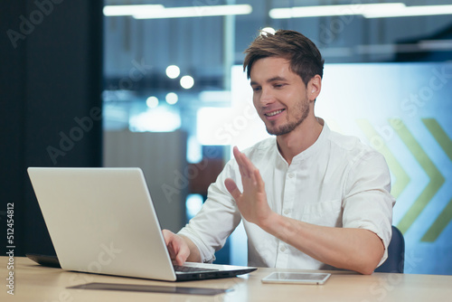
<instances>
[{"instance_id":1,"label":"short brown hair on the smiling man's head","mask_svg":"<svg viewBox=\"0 0 452 302\"><path fill-rule=\"evenodd\" d=\"M274 34L261 31L245 53L243 71L247 71L248 79L253 63L267 57L287 58L290 70L297 73L305 85L315 74L324 75L324 60L315 43L295 31L278 30Z\"/></svg>"}]
</instances>

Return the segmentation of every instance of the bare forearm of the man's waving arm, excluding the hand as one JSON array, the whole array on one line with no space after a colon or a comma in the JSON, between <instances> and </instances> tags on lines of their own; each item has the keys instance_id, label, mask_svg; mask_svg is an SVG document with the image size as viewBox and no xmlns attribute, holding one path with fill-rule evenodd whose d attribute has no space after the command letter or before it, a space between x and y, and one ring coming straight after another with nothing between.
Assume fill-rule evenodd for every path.
<instances>
[{"instance_id":1,"label":"bare forearm of the man's waving arm, excluding the hand","mask_svg":"<svg viewBox=\"0 0 452 302\"><path fill-rule=\"evenodd\" d=\"M372 231L318 226L273 213L260 226L297 250L339 269L371 274L384 246Z\"/></svg>"}]
</instances>

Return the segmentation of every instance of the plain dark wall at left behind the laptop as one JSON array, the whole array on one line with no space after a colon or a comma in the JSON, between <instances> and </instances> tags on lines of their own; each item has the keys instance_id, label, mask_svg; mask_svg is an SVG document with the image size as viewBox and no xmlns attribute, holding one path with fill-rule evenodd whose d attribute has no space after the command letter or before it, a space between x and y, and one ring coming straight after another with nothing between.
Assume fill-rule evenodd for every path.
<instances>
[{"instance_id":1,"label":"plain dark wall at left behind the laptop","mask_svg":"<svg viewBox=\"0 0 452 302\"><path fill-rule=\"evenodd\" d=\"M0 26L0 247L53 253L26 168L101 165L102 1L3 0Z\"/></svg>"}]
</instances>

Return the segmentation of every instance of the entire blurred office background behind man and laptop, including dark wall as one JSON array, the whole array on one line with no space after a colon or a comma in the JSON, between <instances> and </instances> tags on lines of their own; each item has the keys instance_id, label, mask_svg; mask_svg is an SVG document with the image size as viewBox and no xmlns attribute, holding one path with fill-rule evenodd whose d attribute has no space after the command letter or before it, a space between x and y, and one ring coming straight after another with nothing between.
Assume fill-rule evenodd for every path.
<instances>
[{"instance_id":1,"label":"entire blurred office background behind man and laptop, including dark wall","mask_svg":"<svg viewBox=\"0 0 452 302\"><path fill-rule=\"evenodd\" d=\"M450 1L2 6L1 134L9 147L1 185L4 203L16 207L18 253L52 252L25 173L30 165L140 166L162 226L184 226L231 146L268 136L252 108L243 51L260 29L291 29L325 58L316 115L390 165L405 272L452 274ZM246 264L243 231L217 261Z\"/></svg>"}]
</instances>

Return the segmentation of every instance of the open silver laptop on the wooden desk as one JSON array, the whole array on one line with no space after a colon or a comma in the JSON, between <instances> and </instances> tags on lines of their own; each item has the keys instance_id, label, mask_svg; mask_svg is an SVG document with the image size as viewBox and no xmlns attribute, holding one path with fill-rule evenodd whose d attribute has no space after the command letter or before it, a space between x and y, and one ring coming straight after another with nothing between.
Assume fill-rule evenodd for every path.
<instances>
[{"instance_id":1,"label":"open silver laptop on the wooden desk","mask_svg":"<svg viewBox=\"0 0 452 302\"><path fill-rule=\"evenodd\" d=\"M62 269L167 281L256 268L174 268L140 168L42 168L28 174Z\"/></svg>"}]
</instances>

